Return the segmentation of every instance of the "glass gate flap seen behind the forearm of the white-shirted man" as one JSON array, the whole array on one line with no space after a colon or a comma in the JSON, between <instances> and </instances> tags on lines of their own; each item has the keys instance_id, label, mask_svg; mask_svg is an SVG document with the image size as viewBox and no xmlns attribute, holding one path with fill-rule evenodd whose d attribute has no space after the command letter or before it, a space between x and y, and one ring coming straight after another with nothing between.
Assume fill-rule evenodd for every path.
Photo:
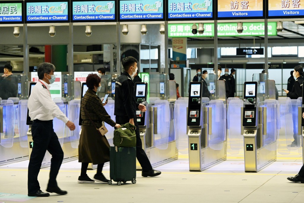
<instances>
[{"instance_id":1,"label":"glass gate flap seen behind the forearm of the white-shirted man","mask_svg":"<svg viewBox=\"0 0 304 203\"><path fill-rule=\"evenodd\" d=\"M60 108L62 113L65 114L65 108L64 108L63 101L62 100L54 100L54 102ZM63 146L64 133L65 133L65 124L64 124L64 122L62 122L58 118L54 117L53 128L54 128L54 132L56 133L56 135L58 137L58 141L59 141L59 143L62 147Z\"/></svg>"}]
</instances>

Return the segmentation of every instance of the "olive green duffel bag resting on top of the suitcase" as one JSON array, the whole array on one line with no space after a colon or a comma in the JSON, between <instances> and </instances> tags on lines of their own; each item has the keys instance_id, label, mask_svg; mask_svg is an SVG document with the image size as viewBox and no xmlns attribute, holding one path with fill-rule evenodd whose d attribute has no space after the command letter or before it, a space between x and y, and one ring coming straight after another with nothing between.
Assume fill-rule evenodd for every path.
<instances>
[{"instance_id":1,"label":"olive green duffel bag resting on top of the suitcase","mask_svg":"<svg viewBox=\"0 0 304 203\"><path fill-rule=\"evenodd\" d=\"M135 125L126 123L114 130L113 144L116 147L136 147Z\"/></svg>"}]
</instances>

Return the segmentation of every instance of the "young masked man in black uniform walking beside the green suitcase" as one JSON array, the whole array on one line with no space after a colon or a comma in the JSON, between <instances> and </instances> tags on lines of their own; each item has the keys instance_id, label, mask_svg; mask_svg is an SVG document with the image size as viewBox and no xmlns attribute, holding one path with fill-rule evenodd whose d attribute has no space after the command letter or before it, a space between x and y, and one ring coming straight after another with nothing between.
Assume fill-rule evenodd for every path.
<instances>
[{"instance_id":1,"label":"young masked man in black uniform walking beside the green suitcase","mask_svg":"<svg viewBox=\"0 0 304 203\"><path fill-rule=\"evenodd\" d=\"M115 107L114 115L116 122L121 124L131 123L136 126L136 158L142 167L143 177L154 177L161 174L160 171L153 170L146 152L142 148L139 134L139 127L136 121L136 109L146 111L143 104L137 103L134 99L134 83L131 76L137 71L137 60L128 56L122 60L124 72L116 80L115 85Z\"/></svg>"}]
</instances>

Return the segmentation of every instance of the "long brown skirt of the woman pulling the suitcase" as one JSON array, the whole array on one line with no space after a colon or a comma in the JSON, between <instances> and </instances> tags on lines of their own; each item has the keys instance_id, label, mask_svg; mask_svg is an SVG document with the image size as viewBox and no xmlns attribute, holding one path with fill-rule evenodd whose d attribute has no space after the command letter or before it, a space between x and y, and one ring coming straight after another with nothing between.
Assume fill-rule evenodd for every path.
<instances>
[{"instance_id":1,"label":"long brown skirt of the woman pulling the suitcase","mask_svg":"<svg viewBox=\"0 0 304 203\"><path fill-rule=\"evenodd\" d=\"M100 164L110 161L110 144L94 126L82 126L78 162Z\"/></svg>"}]
</instances>

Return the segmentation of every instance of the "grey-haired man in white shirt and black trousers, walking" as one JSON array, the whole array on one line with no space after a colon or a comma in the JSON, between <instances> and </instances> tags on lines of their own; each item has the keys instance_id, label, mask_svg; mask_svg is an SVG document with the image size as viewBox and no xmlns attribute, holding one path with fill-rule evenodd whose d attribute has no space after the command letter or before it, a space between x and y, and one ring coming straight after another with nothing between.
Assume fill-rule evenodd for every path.
<instances>
[{"instance_id":1,"label":"grey-haired man in white shirt and black trousers, walking","mask_svg":"<svg viewBox=\"0 0 304 203\"><path fill-rule=\"evenodd\" d=\"M51 98L50 84L55 82L56 79L54 71L55 66L51 63L41 63L38 65L39 82L33 87L28 101L29 116L33 120L33 149L28 169L28 196L32 197L50 196L49 193L40 190L37 179L46 151L52 155L47 192L67 194L67 191L60 190L56 182L56 177L63 160L63 151L53 129L53 119L54 117L60 119L72 131L75 129L75 125L69 121Z\"/></svg>"}]
</instances>

